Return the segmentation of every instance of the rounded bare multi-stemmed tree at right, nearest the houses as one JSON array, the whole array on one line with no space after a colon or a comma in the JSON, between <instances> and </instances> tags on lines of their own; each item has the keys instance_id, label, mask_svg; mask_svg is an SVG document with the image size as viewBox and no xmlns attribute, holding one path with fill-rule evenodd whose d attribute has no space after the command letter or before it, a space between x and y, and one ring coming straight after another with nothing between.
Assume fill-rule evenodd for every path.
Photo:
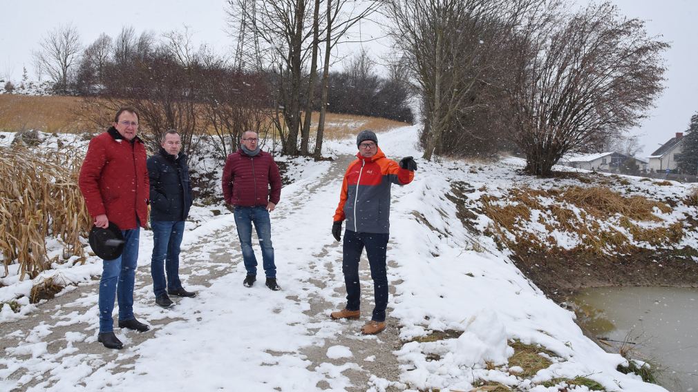
<instances>
[{"instance_id":1,"label":"rounded bare multi-stemmed tree at right, nearest the houses","mask_svg":"<svg viewBox=\"0 0 698 392\"><path fill-rule=\"evenodd\" d=\"M669 45L610 3L530 21L510 56L517 62L510 126L526 171L547 176L563 154L599 145L644 118L663 89L661 53Z\"/></svg>"}]
</instances>

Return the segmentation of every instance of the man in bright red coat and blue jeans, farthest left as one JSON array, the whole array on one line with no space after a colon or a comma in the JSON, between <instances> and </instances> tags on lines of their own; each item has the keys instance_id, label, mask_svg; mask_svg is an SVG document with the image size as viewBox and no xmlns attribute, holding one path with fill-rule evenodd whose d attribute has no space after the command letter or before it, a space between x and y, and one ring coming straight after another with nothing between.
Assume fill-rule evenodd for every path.
<instances>
[{"instance_id":1,"label":"man in bright red coat and blue jeans, farthest left","mask_svg":"<svg viewBox=\"0 0 698 392\"><path fill-rule=\"evenodd\" d=\"M114 296L119 301L119 328L144 332L149 326L133 315L133 285L138 261L140 227L147 223L150 193L145 145L138 132L138 113L122 107L114 124L89 142L80 169L80 190L96 227L117 225L124 235L124 252L103 260L99 285L98 341L110 349L124 345L114 335Z\"/></svg>"}]
</instances>

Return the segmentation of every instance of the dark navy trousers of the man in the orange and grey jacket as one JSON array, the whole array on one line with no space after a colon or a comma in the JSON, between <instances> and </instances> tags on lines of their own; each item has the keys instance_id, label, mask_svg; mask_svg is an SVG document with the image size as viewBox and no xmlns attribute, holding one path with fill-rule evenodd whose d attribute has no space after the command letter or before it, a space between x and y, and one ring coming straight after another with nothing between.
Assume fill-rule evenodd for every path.
<instances>
[{"instance_id":1,"label":"dark navy trousers of the man in the orange and grey jacket","mask_svg":"<svg viewBox=\"0 0 698 392\"><path fill-rule=\"evenodd\" d=\"M371 319L377 322L385 321L385 308L388 306L388 278L385 268L387 245L388 234L357 233L351 230L344 232L342 272L344 284L347 287L347 309L359 310L361 300L359 258L365 247L369 266L371 266L373 296L376 299L376 308L373 308Z\"/></svg>"}]
</instances>

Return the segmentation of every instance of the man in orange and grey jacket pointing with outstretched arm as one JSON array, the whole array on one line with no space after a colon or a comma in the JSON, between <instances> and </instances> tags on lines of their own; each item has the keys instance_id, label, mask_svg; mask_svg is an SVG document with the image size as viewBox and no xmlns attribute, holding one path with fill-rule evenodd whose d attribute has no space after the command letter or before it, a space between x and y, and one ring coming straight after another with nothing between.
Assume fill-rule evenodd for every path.
<instances>
[{"instance_id":1,"label":"man in orange and grey jacket pointing with outstretched arm","mask_svg":"<svg viewBox=\"0 0 698 392\"><path fill-rule=\"evenodd\" d=\"M375 334L385 329L385 308L388 303L388 280L385 265L390 218L390 186L406 185L415 178L417 163L408 156L400 163L385 158L378 147L378 137L371 130L357 135L357 159L344 174L339 206L334 213L332 235L340 241L342 221L346 219L343 242L342 271L347 290L346 308L332 312L332 319L359 318L359 258L364 248L371 266L373 295L376 307L371 321L361 329Z\"/></svg>"}]
</instances>

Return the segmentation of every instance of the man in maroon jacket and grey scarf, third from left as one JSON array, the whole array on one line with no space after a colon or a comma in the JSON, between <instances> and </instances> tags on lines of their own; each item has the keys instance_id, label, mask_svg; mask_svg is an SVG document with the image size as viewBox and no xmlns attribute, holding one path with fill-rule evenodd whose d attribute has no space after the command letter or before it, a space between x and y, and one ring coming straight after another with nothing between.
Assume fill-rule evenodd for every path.
<instances>
[{"instance_id":1,"label":"man in maroon jacket and grey scarf, third from left","mask_svg":"<svg viewBox=\"0 0 698 392\"><path fill-rule=\"evenodd\" d=\"M274 211L281 197L281 175L271 154L261 151L257 133L245 132L240 149L228 156L223 169L223 198L235 207L235 225L242 247L242 260L247 270L245 287L257 279L257 259L252 250L252 224L262 248L262 266L267 287L279 290L276 282L272 223L269 212Z\"/></svg>"}]
</instances>

